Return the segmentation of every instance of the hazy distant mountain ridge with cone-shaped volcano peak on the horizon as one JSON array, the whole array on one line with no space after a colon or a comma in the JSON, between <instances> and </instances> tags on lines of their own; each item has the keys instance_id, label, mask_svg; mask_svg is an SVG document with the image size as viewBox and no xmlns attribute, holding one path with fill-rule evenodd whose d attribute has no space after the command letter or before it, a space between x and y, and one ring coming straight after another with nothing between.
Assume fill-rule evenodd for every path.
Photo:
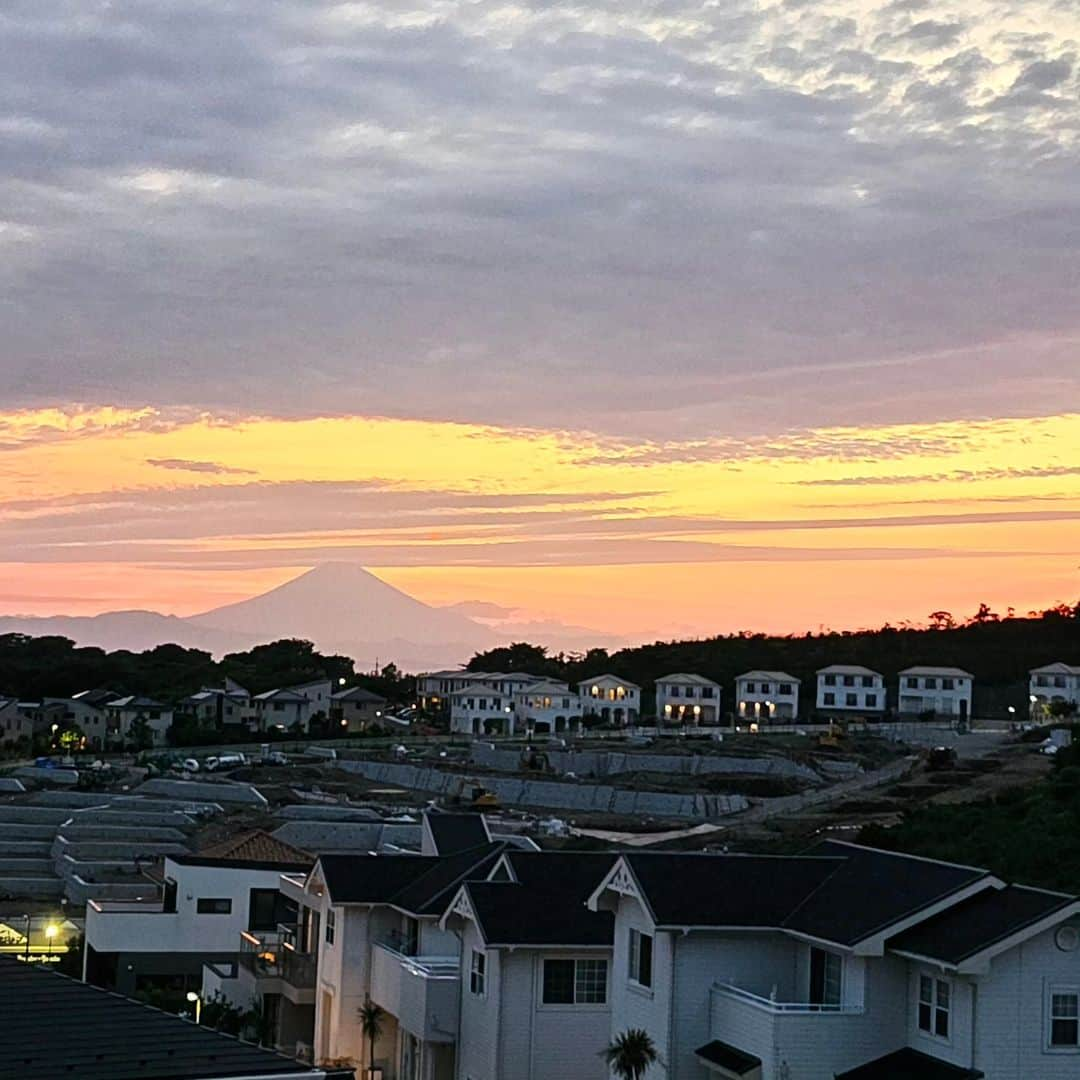
<instances>
[{"instance_id":1,"label":"hazy distant mountain ridge with cone-shaped volcano peak on the horizon","mask_svg":"<svg viewBox=\"0 0 1080 1080\"><path fill-rule=\"evenodd\" d=\"M557 636L558 624L544 626ZM579 627L566 631L575 638L581 633ZM497 627L453 607L424 604L351 563L316 566L267 593L187 618L157 611L0 616L0 633L59 635L110 651L176 644L215 657L301 637L323 652L354 658L361 667L393 661L406 671L463 664L474 652L508 639Z\"/></svg>"}]
</instances>

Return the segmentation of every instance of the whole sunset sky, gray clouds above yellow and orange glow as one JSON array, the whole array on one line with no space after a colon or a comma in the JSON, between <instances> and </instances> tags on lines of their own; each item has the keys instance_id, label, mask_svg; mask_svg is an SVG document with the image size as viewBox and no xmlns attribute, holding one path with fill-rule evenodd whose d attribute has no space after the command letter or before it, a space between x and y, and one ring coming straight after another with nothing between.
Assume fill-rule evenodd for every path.
<instances>
[{"instance_id":1,"label":"whole sunset sky, gray clouds above yellow and orange glow","mask_svg":"<svg viewBox=\"0 0 1080 1080\"><path fill-rule=\"evenodd\" d=\"M1069 0L8 0L0 612L1080 596Z\"/></svg>"}]
</instances>

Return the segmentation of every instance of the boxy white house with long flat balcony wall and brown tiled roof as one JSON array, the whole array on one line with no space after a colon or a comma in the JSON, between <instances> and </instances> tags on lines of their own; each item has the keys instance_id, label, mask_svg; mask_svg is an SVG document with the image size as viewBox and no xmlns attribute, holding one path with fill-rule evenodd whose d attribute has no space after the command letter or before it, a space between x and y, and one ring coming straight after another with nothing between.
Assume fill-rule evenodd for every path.
<instances>
[{"instance_id":1,"label":"boxy white house with long flat balcony wall and brown tiled roof","mask_svg":"<svg viewBox=\"0 0 1080 1080\"><path fill-rule=\"evenodd\" d=\"M198 991L206 962L234 961L241 933L295 921L283 905L283 872L313 859L265 833L249 833L194 855L166 855L161 894L145 901L90 901L83 977L129 996L161 987Z\"/></svg>"}]
</instances>

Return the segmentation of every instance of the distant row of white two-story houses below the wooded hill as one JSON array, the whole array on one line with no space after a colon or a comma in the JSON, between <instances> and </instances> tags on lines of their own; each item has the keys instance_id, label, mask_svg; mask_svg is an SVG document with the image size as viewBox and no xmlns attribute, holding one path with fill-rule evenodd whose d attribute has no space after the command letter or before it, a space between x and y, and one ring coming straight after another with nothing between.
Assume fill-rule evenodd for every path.
<instances>
[{"instance_id":1,"label":"distant row of white two-story houses below the wooded hill","mask_svg":"<svg viewBox=\"0 0 1080 1080\"><path fill-rule=\"evenodd\" d=\"M902 716L972 715L974 676L959 667L916 666L899 672L896 713ZM654 719L665 725L734 721L782 724L800 715L800 679L787 672L750 671L735 677L734 699L725 710L720 684L678 672L656 680L656 708L643 717L642 687L618 675L570 684L525 672L427 672L417 678L420 708L442 715L463 734L568 731L593 720L623 727ZM1055 704L1080 704L1080 666L1052 663L1030 673L1028 710L1045 716ZM886 676L856 664L818 672L813 713L823 717L882 716Z\"/></svg>"}]
</instances>

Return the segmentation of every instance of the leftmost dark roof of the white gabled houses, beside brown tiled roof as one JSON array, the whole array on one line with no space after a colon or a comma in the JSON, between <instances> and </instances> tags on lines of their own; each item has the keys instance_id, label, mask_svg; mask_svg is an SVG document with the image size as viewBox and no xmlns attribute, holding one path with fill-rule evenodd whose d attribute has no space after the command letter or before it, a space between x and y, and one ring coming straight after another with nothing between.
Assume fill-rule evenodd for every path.
<instances>
[{"instance_id":1,"label":"leftmost dark roof of the white gabled houses, beside brown tiled roof","mask_svg":"<svg viewBox=\"0 0 1080 1080\"><path fill-rule=\"evenodd\" d=\"M335 904L392 904L415 915L441 915L448 895L469 878L483 880L502 854L485 843L456 855L322 855L319 864Z\"/></svg>"}]
</instances>

